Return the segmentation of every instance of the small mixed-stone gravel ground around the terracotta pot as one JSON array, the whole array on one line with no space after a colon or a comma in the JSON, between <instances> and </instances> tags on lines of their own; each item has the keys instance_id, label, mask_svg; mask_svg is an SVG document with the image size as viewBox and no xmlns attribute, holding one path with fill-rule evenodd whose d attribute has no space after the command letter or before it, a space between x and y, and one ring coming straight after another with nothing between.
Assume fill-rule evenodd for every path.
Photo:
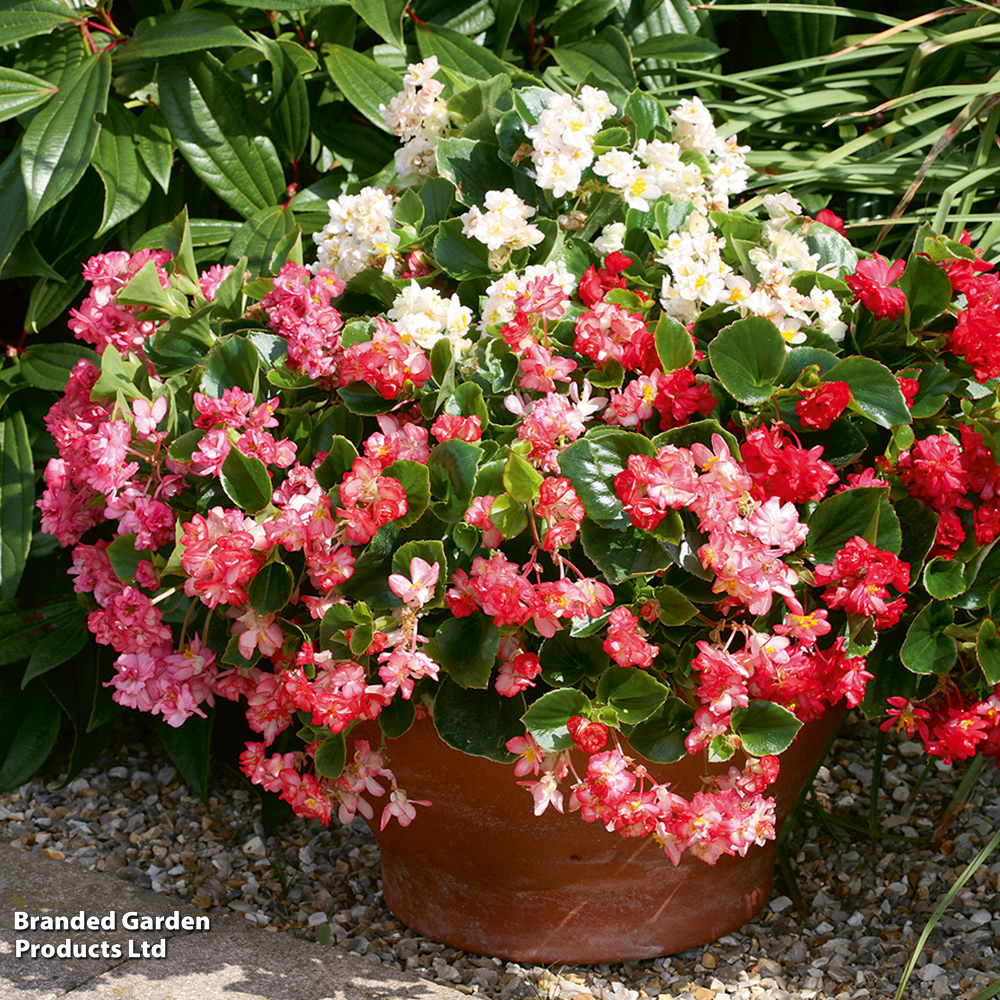
<instances>
[{"instance_id":1,"label":"small mixed-stone gravel ground around the terracotta pot","mask_svg":"<svg viewBox=\"0 0 1000 1000\"><path fill-rule=\"evenodd\" d=\"M808 916L779 875L755 921L705 948L621 965L542 968L465 954L404 927L382 900L378 848L360 823L326 829L293 821L265 840L248 787L223 781L205 806L150 752L141 731L127 729L122 738L68 788L57 788L50 771L0 795L0 840L499 1000L889 1000L928 916L1000 820L1000 772L990 764L943 838L927 846L965 765L925 773L919 748L891 739L882 826L922 842L883 839L876 853L866 837L820 812L854 823L868 813L874 730L849 724L790 841ZM971 1000L1000 977L998 889L994 855L931 935L908 1000Z\"/></svg>"}]
</instances>

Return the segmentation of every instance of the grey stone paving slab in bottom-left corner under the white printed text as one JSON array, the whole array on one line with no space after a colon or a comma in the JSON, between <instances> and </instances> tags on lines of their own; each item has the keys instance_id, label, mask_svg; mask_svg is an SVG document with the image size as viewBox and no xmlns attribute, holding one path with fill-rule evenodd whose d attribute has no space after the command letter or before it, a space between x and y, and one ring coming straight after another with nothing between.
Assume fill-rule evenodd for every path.
<instances>
[{"instance_id":1,"label":"grey stone paving slab in bottom-left corner under the white printed text","mask_svg":"<svg viewBox=\"0 0 1000 1000\"><path fill-rule=\"evenodd\" d=\"M337 948L0 844L0 1000L460 1000Z\"/></svg>"}]
</instances>

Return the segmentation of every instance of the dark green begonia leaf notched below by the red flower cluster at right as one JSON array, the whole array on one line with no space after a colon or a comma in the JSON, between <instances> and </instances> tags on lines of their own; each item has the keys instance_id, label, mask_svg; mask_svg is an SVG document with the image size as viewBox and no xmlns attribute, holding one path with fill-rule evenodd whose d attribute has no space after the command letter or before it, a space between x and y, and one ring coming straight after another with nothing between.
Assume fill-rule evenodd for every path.
<instances>
[{"instance_id":1,"label":"dark green begonia leaf notched below by the red flower cluster at right","mask_svg":"<svg viewBox=\"0 0 1000 1000\"><path fill-rule=\"evenodd\" d=\"M898 553L902 542L899 518L889 502L889 491L861 486L844 490L817 505L809 519L806 551L815 563L832 563L855 536L883 552Z\"/></svg>"}]
</instances>

